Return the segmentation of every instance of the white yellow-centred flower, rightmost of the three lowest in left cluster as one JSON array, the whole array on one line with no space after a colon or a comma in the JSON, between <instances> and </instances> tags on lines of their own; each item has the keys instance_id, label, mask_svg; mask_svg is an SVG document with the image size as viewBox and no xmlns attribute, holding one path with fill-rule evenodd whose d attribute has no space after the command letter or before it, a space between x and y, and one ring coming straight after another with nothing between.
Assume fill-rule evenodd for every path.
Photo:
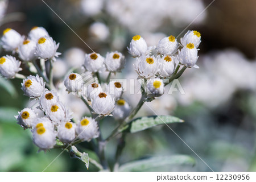
<instances>
[{"instance_id":1,"label":"white yellow-centred flower, rightmost of the three lowest in left cluster","mask_svg":"<svg viewBox=\"0 0 256 182\"><path fill-rule=\"evenodd\" d=\"M100 135L97 122L90 117L82 118L82 120L77 123L76 134L78 138L88 142L92 138L97 138Z\"/></svg>"}]
</instances>

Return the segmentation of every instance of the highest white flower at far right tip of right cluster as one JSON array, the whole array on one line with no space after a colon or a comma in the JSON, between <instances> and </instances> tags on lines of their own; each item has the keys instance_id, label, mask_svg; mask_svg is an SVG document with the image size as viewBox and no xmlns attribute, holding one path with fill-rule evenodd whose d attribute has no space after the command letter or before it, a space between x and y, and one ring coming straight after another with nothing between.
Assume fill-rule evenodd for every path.
<instances>
[{"instance_id":1,"label":"highest white flower at far right tip of right cluster","mask_svg":"<svg viewBox=\"0 0 256 182\"><path fill-rule=\"evenodd\" d=\"M189 43L193 43L195 47L199 47L199 44L201 43L201 34L198 31L195 30L189 30L183 38L180 39L180 42L182 46L187 46Z\"/></svg>"}]
</instances>

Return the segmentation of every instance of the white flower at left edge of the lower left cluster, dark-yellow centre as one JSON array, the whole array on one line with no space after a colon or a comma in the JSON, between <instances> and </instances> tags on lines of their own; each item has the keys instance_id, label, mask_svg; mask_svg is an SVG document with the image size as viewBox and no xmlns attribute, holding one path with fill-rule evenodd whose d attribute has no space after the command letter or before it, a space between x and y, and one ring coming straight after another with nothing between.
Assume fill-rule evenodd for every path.
<instances>
[{"instance_id":1,"label":"white flower at left edge of the lower left cluster, dark-yellow centre","mask_svg":"<svg viewBox=\"0 0 256 182\"><path fill-rule=\"evenodd\" d=\"M32 123L36 119L35 111L30 108L25 108L18 113L19 113L19 115L15 115L15 118L18 121L17 123L24 129L31 128Z\"/></svg>"}]
</instances>

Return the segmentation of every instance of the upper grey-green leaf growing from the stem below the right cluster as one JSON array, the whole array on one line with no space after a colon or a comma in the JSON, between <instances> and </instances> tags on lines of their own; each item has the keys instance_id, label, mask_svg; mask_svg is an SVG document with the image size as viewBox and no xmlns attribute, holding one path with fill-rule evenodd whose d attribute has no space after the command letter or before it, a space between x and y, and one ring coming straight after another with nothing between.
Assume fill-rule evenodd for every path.
<instances>
[{"instance_id":1,"label":"upper grey-green leaf growing from the stem below the right cluster","mask_svg":"<svg viewBox=\"0 0 256 182\"><path fill-rule=\"evenodd\" d=\"M135 118L131 122L129 122L129 125L121 127L121 129L119 129L119 132L126 130L130 133L135 133L157 125L182 122L184 122L182 119L173 117L171 115L153 115L149 117Z\"/></svg>"}]
</instances>

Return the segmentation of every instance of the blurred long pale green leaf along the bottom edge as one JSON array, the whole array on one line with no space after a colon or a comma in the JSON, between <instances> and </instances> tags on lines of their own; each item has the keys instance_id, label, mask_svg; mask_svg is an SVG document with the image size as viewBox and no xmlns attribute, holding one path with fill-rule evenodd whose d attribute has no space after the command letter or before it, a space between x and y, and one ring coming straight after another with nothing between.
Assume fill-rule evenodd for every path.
<instances>
[{"instance_id":1,"label":"blurred long pale green leaf along the bottom edge","mask_svg":"<svg viewBox=\"0 0 256 182\"><path fill-rule=\"evenodd\" d=\"M160 156L123 164L118 171L148 171L152 168L174 164L195 165L195 159L188 155Z\"/></svg>"}]
</instances>

